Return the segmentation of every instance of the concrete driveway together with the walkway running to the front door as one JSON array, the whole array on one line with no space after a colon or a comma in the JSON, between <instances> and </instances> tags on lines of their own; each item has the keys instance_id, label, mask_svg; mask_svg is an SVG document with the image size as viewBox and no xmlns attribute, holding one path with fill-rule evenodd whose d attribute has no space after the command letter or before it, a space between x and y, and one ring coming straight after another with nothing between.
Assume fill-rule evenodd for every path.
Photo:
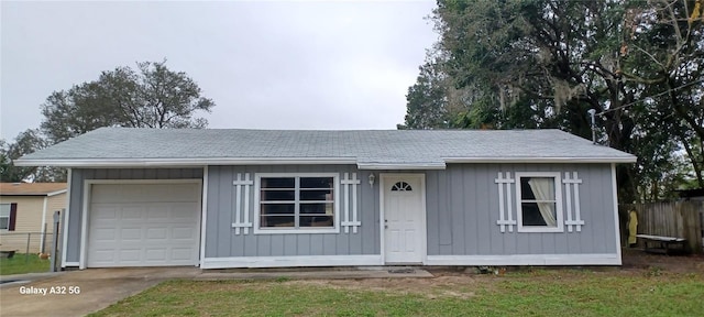
<instances>
[{"instance_id":1,"label":"concrete driveway together with the walkway running to the front door","mask_svg":"<svg viewBox=\"0 0 704 317\"><path fill-rule=\"evenodd\" d=\"M85 316L172 278L219 281L280 277L330 280L432 277L432 275L419 269L388 267L231 271L201 271L198 267L135 267L7 275L0 276L0 281L20 282L0 284L0 316Z\"/></svg>"}]
</instances>

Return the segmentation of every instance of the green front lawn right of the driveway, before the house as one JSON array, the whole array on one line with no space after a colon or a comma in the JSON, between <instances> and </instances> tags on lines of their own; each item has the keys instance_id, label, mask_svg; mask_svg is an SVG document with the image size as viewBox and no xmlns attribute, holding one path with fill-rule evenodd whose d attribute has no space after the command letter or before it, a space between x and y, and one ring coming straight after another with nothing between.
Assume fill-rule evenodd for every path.
<instances>
[{"instance_id":1,"label":"green front lawn right of the driveway, before the house","mask_svg":"<svg viewBox=\"0 0 704 317\"><path fill-rule=\"evenodd\" d=\"M701 316L704 311L700 273L653 276L550 270L447 281L417 281L417 287L413 280L400 284L382 280L372 282L373 287L364 284L369 281L168 281L90 316Z\"/></svg>"}]
</instances>

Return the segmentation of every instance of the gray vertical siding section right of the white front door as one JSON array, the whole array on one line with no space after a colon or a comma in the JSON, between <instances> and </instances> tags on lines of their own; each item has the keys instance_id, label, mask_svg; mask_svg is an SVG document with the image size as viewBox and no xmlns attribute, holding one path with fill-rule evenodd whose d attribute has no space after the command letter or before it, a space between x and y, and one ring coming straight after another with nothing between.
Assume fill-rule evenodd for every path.
<instances>
[{"instance_id":1,"label":"gray vertical siding section right of the white front door","mask_svg":"<svg viewBox=\"0 0 704 317\"><path fill-rule=\"evenodd\" d=\"M499 172L510 172L513 177L516 172L578 172L582 179L581 231L569 232L565 226L563 232L518 232L516 227L513 232L501 232L495 184ZM617 253L608 164L448 164L444 171L425 173L428 255ZM563 206L569 199L564 192L562 188ZM513 201L513 219L515 194L514 189L508 200Z\"/></svg>"}]
</instances>

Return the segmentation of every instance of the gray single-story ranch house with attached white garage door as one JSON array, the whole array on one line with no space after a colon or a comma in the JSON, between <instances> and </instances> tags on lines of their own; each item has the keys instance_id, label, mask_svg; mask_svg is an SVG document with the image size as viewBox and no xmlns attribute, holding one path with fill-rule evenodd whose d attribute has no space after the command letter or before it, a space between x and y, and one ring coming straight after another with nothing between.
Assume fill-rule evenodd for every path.
<instances>
[{"instance_id":1,"label":"gray single-story ranch house with attached white garage door","mask_svg":"<svg viewBox=\"0 0 704 317\"><path fill-rule=\"evenodd\" d=\"M615 165L559 130L102 128L69 168L64 267L620 265Z\"/></svg>"}]
</instances>

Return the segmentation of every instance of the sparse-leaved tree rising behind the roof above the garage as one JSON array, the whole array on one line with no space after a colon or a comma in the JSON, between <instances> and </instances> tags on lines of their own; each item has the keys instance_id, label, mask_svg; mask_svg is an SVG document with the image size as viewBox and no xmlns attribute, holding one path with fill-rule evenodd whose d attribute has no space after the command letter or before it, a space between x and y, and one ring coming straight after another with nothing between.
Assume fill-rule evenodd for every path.
<instances>
[{"instance_id":1,"label":"sparse-leaved tree rising behind the roof above the garage","mask_svg":"<svg viewBox=\"0 0 704 317\"><path fill-rule=\"evenodd\" d=\"M196 117L215 103L184 72L144 62L102 72L95 81L53 92L42 105L42 131L52 143L101 127L205 128Z\"/></svg>"}]
</instances>

